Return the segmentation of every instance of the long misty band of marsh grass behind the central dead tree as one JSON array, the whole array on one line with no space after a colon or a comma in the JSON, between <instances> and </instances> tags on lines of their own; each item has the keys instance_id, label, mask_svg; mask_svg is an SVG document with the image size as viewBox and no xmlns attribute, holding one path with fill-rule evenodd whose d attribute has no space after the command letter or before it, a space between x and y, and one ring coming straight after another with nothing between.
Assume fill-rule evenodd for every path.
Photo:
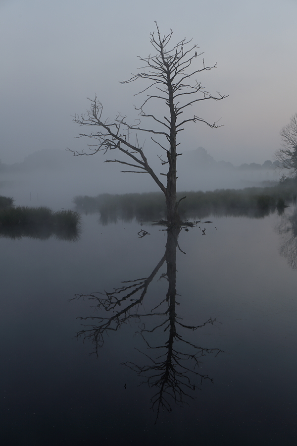
<instances>
[{"instance_id":1,"label":"long misty band of marsh grass behind the central dead tree","mask_svg":"<svg viewBox=\"0 0 297 446\"><path fill-rule=\"evenodd\" d=\"M270 212L282 213L296 201L295 182L274 187L247 187L245 189L217 189L209 192L179 192L179 210L183 219L201 219L207 215L230 215L261 218ZM103 224L117 219L131 221L158 221L165 218L165 199L161 192L124 195L100 194L97 197L77 196L77 210L100 213Z\"/></svg>"}]
</instances>

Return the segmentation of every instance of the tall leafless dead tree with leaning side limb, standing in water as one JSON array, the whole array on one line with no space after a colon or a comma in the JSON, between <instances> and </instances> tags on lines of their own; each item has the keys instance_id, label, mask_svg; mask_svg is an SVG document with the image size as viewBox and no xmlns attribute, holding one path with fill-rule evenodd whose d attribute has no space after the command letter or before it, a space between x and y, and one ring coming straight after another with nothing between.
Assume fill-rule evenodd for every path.
<instances>
[{"instance_id":1,"label":"tall leafless dead tree with leaning side limb, standing in water","mask_svg":"<svg viewBox=\"0 0 297 446\"><path fill-rule=\"evenodd\" d=\"M89 153L79 153L70 150L75 156L93 155L99 151L106 153L109 150L116 150L127 156L127 161L119 159L106 160L107 163L120 163L127 166L128 170L123 172L148 173L155 183L159 186L165 195L167 206L167 225L173 227L180 224L178 215L178 202L176 198L176 162L178 155L176 149L180 142L177 137L184 130L184 126L188 123L203 122L211 128L220 127L216 122L209 123L197 114L183 114L190 107L197 105L200 101L221 100L226 96L217 92L216 96L212 96L204 89L201 83L196 80L195 76L202 71L209 71L216 67L206 66L204 59L200 68L193 67L196 62L197 45L191 45L191 40L181 40L176 45L171 46L173 32L162 36L156 23L156 33L150 34L150 42L156 54L154 56L139 57L144 66L139 68L137 74L123 84L143 79L148 82L142 91L138 94L146 93L146 98L142 105L136 110L139 111L141 118L153 124L152 127L146 127L141 124L138 119L134 124L129 124L126 116L118 113L113 122L103 117L103 106L97 97L91 101L91 109L86 114L75 115L74 122L81 126L91 127L90 133L80 133L78 137L88 137L94 140L94 144L89 144ZM192 70L191 70L192 68ZM189 71L190 69L190 71ZM193 79L193 81L192 81ZM195 79L195 80L194 80ZM157 101L159 110L161 103L165 105L167 110L165 116L160 116L155 112L151 112L150 103ZM156 110L156 106L154 109ZM160 111L160 114L163 114ZM157 174L149 165L147 156L145 155L143 145L139 144L139 133L148 133L151 135L151 141L156 144L159 149L165 152L166 158L159 156L161 164L168 165L167 174ZM135 144L132 144L132 135L135 137ZM68 149L69 150L69 149ZM135 170L137 169L137 170ZM167 176L166 184L161 181L160 175Z\"/></svg>"}]
</instances>

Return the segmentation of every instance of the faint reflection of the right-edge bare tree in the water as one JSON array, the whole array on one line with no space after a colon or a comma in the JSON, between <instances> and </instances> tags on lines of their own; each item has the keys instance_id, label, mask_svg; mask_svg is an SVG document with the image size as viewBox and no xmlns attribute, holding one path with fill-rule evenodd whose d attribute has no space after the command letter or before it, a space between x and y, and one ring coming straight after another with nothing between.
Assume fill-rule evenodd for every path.
<instances>
[{"instance_id":1,"label":"faint reflection of the right-edge bare tree in the water","mask_svg":"<svg viewBox=\"0 0 297 446\"><path fill-rule=\"evenodd\" d=\"M280 254L293 269L297 269L297 208L291 214L283 214L277 232L282 235Z\"/></svg>"}]
</instances>

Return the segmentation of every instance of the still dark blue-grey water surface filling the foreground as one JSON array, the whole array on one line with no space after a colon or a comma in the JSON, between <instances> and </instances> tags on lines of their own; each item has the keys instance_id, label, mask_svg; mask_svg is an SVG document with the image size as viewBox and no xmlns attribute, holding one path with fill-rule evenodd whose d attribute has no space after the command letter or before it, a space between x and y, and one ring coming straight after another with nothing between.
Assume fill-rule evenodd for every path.
<instances>
[{"instance_id":1,"label":"still dark blue-grey water surface filling the foreground","mask_svg":"<svg viewBox=\"0 0 297 446\"><path fill-rule=\"evenodd\" d=\"M95 215L77 242L0 239L3 445L297 444L294 210L209 220L179 247ZM109 312L70 300L93 292Z\"/></svg>"}]
</instances>

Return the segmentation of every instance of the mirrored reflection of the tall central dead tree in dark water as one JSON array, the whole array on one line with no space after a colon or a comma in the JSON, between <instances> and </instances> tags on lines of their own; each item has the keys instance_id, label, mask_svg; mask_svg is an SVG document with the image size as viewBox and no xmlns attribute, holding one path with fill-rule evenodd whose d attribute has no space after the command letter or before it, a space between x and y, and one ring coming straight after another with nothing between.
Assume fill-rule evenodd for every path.
<instances>
[{"instance_id":1,"label":"mirrored reflection of the tall central dead tree in dark water","mask_svg":"<svg viewBox=\"0 0 297 446\"><path fill-rule=\"evenodd\" d=\"M83 336L84 340L90 339L94 343L94 352L97 355L104 343L104 336L109 331L117 331L132 320L140 323L139 334L147 350L137 350L145 358L145 363L140 365L128 361L124 365L143 379L142 384L146 383L154 390L150 403L151 408L156 409L156 420L160 411L171 411L173 402L182 405L185 399L193 399L193 391L199 388L203 380L212 382L212 378L201 373L200 358L211 353L216 356L222 351L219 348L204 348L185 338L187 330L196 331L207 324L213 324L215 319L192 326L184 324L183 319L177 315L180 304L176 300L176 251L177 248L180 249L180 230L181 228L167 230L165 253L147 278L122 282L123 285L112 292L76 295L76 298L94 300L100 313L80 318L92 322L84 325L77 334L78 337ZM149 284L164 264L166 272L161 274L160 279L168 281L166 295L149 312L144 312ZM148 299L146 303L149 303ZM161 333L165 333L166 337L160 343Z\"/></svg>"}]
</instances>

